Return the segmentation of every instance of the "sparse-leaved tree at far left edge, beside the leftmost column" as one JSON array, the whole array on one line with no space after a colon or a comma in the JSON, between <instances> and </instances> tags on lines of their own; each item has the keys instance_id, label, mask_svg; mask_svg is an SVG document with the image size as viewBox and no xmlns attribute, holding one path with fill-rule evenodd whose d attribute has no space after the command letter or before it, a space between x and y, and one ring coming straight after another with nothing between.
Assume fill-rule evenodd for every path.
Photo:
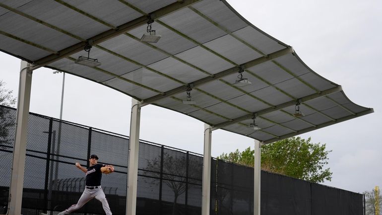
<instances>
[{"instance_id":1,"label":"sparse-leaved tree at far left edge, beside the leftmost column","mask_svg":"<svg viewBox=\"0 0 382 215\"><path fill-rule=\"evenodd\" d=\"M14 107L16 104L16 98L12 96L12 90L8 90L4 87L5 82L0 80L0 105ZM10 109L0 107L0 147L4 148L4 145L11 145L12 140L9 138L9 130L13 128L14 116L11 116Z\"/></svg>"}]
</instances>

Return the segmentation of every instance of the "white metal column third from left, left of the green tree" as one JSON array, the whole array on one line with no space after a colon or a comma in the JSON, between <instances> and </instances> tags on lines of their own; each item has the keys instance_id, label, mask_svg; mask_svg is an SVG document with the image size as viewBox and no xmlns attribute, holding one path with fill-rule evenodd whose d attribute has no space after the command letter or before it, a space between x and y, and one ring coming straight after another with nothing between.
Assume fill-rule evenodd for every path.
<instances>
[{"instance_id":1,"label":"white metal column third from left, left of the green tree","mask_svg":"<svg viewBox=\"0 0 382 215\"><path fill-rule=\"evenodd\" d=\"M211 190L211 126L204 124L204 154L201 215L209 215Z\"/></svg>"}]
</instances>

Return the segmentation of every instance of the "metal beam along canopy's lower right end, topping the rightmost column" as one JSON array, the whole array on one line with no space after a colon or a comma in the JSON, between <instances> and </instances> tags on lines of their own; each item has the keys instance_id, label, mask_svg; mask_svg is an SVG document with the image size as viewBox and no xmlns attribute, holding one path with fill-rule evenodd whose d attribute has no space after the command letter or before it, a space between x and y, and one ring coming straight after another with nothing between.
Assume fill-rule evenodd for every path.
<instances>
[{"instance_id":1,"label":"metal beam along canopy's lower right end, topping the rightmost column","mask_svg":"<svg viewBox=\"0 0 382 215\"><path fill-rule=\"evenodd\" d=\"M336 123L340 123L340 122L343 122L343 121L346 121L346 120L350 120L350 119L353 119L353 118L356 118L356 117L360 117L360 116L363 116L363 115L366 115L366 114L371 114L371 113L374 113L373 108L369 108L368 110L360 112L360 113L357 113L356 115L349 115L349 116L346 116L346 117L339 118L339 119L337 119L334 122L333 121L329 121L329 122L326 122L326 123L322 123L322 124L318 125L317 127L310 127L310 128L307 128L307 129L300 130L300 131L297 132L297 134L296 133L290 133L290 134L287 134L287 135L283 135L280 138L273 138L273 139L270 139L268 141L264 141L264 143L265 144L273 143L273 142L276 142L276 141L283 140L285 138L290 138L290 137L293 137L293 136L296 136L296 135L301 135L301 134L304 134L304 133L307 133L307 132L310 132L310 131L314 131L314 130L317 130L317 129L320 129L320 128L323 128L323 127L326 127L326 126L330 126L330 125L333 125L333 124L336 124Z\"/></svg>"}]
</instances>

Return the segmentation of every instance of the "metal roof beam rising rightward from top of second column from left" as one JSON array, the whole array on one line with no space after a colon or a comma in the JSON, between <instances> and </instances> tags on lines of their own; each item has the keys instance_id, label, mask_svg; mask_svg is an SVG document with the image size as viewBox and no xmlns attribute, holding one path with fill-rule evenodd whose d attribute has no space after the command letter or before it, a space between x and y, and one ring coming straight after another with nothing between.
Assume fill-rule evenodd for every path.
<instances>
[{"instance_id":1,"label":"metal roof beam rising rightward from top of second column from left","mask_svg":"<svg viewBox=\"0 0 382 215\"><path fill-rule=\"evenodd\" d=\"M257 58L255 60L252 60L252 61L249 61L249 62L247 62L245 64L242 64L240 66L242 68L250 68L250 67L253 67L255 65L259 65L261 63L264 63L264 62L267 62L267 61L271 61L273 59L276 59L278 57L281 57L281 56L284 56L284 55L287 55L287 54L290 54L290 53L293 53L293 48L292 47L288 47L288 48L279 50L277 52L271 53L271 54L269 54L267 56L263 56L263 57ZM199 80L195 80L195 81L189 83L188 85L180 86L180 87L171 89L169 91L164 92L163 95L155 95L155 96L152 96L150 98L144 99L142 101L142 103L143 104L150 104L150 103L153 103L153 102L155 102L155 101L157 101L159 99L162 99L162 98L165 98L165 97L177 94L177 93L182 92L182 91L186 91L186 89L189 88L189 85L192 85L193 87L196 87L196 86L199 86L199 85L211 82L213 80L217 80L217 79L222 78L224 76L233 74L233 73L238 72L238 71L239 71L239 67L233 67L233 68L230 68L228 70L225 70L225 71L222 71L222 72L218 72L218 73L214 74L213 76L208 76L208 77L201 78Z\"/></svg>"}]
</instances>

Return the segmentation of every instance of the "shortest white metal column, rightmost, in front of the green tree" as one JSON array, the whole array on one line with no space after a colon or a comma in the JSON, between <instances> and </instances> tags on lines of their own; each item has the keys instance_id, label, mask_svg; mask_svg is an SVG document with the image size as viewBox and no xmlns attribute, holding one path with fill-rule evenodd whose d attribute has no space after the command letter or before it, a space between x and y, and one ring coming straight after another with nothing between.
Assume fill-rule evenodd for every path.
<instances>
[{"instance_id":1,"label":"shortest white metal column, rightmost, in front of the green tree","mask_svg":"<svg viewBox=\"0 0 382 215\"><path fill-rule=\"evenodd\" d=\"M255 140L254 215L260 215L261 143Z\"/></svg>"}]
</instances>

